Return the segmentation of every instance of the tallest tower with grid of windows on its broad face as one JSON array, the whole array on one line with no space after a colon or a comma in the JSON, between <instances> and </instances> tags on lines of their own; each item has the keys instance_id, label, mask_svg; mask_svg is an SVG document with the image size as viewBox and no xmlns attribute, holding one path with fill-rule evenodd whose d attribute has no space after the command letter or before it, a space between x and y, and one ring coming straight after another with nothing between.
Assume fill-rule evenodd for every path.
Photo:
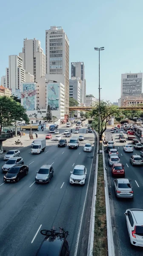
<instances>
[{"instance_id":1,"label":"tallest tower with grid of windows on its broad face","mask_svg":"<svg viewBox=\"0 0 143 256\"><path fill-rule=\"evenodd\" d=\"M46 30L46 74L65 86L65 119L69 114L69 39L62 27ZM55 78L54 78L54 75ZM59 81L64 76L64 82Z\"/></svg>"}]
</instances>

